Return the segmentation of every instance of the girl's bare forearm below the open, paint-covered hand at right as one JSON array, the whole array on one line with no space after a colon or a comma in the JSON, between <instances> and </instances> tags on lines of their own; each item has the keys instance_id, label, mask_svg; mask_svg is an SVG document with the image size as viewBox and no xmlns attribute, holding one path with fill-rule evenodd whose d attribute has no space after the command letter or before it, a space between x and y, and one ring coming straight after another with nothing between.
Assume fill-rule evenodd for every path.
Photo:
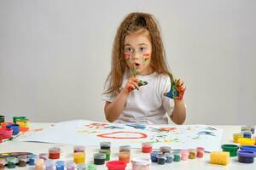
<instances>
[{"instance_id":1,"label":"girl's bare forearm below the open, paint-covered hand at right","mask_svg":"<svg viewBox=\"0 0 256 170\"><path fill-rule=\"evenodd\" d=\"M186 105L183 99L174 99L174 109L172 111L172 122L183 124L186 119Z\"/></svg>"}]
</instances>

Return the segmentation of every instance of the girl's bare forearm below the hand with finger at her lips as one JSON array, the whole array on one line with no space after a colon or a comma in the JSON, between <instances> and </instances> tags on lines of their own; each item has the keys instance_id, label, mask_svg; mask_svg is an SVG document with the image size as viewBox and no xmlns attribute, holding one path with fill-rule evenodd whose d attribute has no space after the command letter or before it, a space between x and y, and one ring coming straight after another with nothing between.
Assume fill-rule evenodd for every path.
<instances>
[{"instance_id":1,"label":"girl's bare forearm below the hand with finger at her lips","mask_svg":"<svg viewBox=\"0 0 256 170\"><path fill-rule=\"evenodd\" d=\"M117 97L113 99L113 102L105 105L104 111L108 122L114 122L119 118L120 114L125 108L125 103L128 95L129 93L125 89L123 89L121 90L119 95L117 95Z\"/></svg>"}]
</instances>

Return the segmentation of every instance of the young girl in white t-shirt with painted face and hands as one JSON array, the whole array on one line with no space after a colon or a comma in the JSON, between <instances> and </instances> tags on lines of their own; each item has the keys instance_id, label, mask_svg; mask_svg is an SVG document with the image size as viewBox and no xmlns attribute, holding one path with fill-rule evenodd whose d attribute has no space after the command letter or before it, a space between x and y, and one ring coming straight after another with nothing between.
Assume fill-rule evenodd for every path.
<instances>
[{"instance_id":1,"label":"young girl in white t-shirt with painted face and hands","mask_svg":"<svg viewBox=\"0 0 256 170\"><path fill-rule=\"evenodd\" d=\"M112 67L102 99L108 122L182 124L186 117L183 82L173 81L157 21L151 14L131 13L119 26ZM167 93L168 92L168 93Z\"/></svg>"}]
</instances>

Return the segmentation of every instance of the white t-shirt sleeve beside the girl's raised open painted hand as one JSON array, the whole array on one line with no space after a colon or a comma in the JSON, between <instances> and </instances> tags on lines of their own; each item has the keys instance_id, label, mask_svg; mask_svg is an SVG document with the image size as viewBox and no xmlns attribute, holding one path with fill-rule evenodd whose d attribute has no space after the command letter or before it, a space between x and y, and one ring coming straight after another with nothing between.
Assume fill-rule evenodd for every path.
<instances>
[{"instance_id":1,"label":"white t-shirt sleeve beside the girl's raised open painted hand","mask_svg":"<svg viewBox=\"0 0 256 170\"><path fill-rule=\"evenodd\" d=\"M162 103L163 103L163 107L165 108L167 114L169 116L172 115L172 111L174 109L174 100L171 99L171 98L168 98L166 96L164 96L164 93L168 93L171 89L171 80L170 80L170 77L168 76L164 76L163 77L163 83L164 83L164 88L163 88L163 91L162 91Z\"/></svg>"}]
</instances>

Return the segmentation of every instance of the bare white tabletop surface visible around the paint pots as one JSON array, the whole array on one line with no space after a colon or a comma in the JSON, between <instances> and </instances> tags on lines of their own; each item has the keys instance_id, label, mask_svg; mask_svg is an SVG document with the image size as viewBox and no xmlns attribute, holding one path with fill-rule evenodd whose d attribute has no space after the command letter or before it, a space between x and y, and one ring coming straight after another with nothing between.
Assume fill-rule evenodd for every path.
<instances>
[{"instance_id":1,"label":"bare white tabletop surface visible around the paint pots","mask_svg":"<svg viewBox=\"0 0 256 170\"><path fill-rule=\"evenodd\" d=\"M32 123L31 128L38 127L48 127L50 123ZM224 129L224 134L222 138L222 144L233 144L232 138L233 133L241 132L241 126L214 126ZM34 154L38 153L47 153L48 149L52 146L61 148L61 160L73 160L73 145L72 144L45 144L37 142L18 142L18 141L5 141L0 144L0 152L15 152L15 151L27 151ZM99 147L85 147L86 150L86 163L92 162L92 156L98 151ZM111 146L111 160L118 160L118 148ZM140 150L133 149L131 150L131 157L150 157L149 154L144 154ZM244 164L237 161L237 157L230 157L230 164L227 166L215 165L209 163L209 154L205 154L204 158L196 158L188 161L172 162L166 163L165 165L158 165L157 163L151 163L150 169L163 170L163 169L188 169L188 170L215 170L215 169L224 169L224 170L256 170L256 162L253 164ZM105 165L96 166L97 169L108 169ZM29 169L29 166L26 167L16 167L17 169ZM131 170L131 163L127 164L126 170Z\"/></svg>"}]
</instances>

